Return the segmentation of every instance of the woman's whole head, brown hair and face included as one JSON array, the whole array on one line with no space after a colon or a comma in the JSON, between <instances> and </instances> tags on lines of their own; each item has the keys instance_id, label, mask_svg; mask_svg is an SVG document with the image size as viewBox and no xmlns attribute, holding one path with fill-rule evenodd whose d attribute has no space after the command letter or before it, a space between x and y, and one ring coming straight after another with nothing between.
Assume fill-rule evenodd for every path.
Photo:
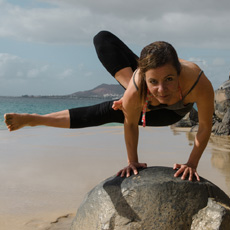
<instances>
[{"instance_id":1,"label":"woman's whole head, brown hair and face included","mask_svg":"<svg viewBox=\"0 0 230 230\"><path fill-rule=\"evenodd\" d=\"M162 104L170 105L179 100L178 76L181 64L171 44L157 41L144 47L138 60L138 68L142 103L145 103L147 88Z\"/></svg>"}]
</instances>

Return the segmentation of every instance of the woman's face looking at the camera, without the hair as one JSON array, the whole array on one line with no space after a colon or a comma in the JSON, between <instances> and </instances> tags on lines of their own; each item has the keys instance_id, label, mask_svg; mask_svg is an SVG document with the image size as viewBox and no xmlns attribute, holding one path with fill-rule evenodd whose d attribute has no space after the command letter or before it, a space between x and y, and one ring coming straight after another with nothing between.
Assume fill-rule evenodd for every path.
<instances>
[{"instance_id":1,"label":"woman's face looking at the camera, without the hair","mask_svg":"<svg viewBox=\"0 0 230 230\"><path fill-rule=\"evenodd\" d=\"M145 76L150 93L161 104L169 104L178 97L178 74L171 64L150 69Z\"/></svg>"}]
</instances>

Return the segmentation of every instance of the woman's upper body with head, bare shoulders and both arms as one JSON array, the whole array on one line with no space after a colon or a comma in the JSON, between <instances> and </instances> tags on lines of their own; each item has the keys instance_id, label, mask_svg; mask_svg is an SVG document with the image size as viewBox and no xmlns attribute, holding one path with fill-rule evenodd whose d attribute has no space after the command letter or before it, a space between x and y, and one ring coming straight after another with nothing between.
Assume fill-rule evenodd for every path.
<instances>
[{"instance_id":1,"label":"woman's upper body with head, bare shoulders and both arms","mask_svg":"<svg viewBox=\"0 0 230 230\"><path fill-rule=\"evenodd\" d=\"M170 49L171 53L168 53L167 50ZM146 123L146 108L152 110L164 108L185 115L193 103L197 103L199 130L194 147L187 163L174 165L174 169L178 169L174 176L182 174L182 179L188 176L189 180L192 180L195 175L196 179L200 180L196 168L211 134L214 111L214 92L211 83L197 65L179 60L175 50L164 42L156 42L143 49L136 75L137 83L133 81L133 86L128 87L123 98L128 166L118 174L129 176L130 171L136 174L138 167L146 167L145 164L139 164L137 157L138 115L141 102L137 98L135 88L136 90L140 88L140 98L146 99L147 96L151 96L146 99L146 106L143 109L143 123ZM198 76L197 79L194 76ZM135 74L133 79L134 77Z\"/></svg>"}]
</instances>

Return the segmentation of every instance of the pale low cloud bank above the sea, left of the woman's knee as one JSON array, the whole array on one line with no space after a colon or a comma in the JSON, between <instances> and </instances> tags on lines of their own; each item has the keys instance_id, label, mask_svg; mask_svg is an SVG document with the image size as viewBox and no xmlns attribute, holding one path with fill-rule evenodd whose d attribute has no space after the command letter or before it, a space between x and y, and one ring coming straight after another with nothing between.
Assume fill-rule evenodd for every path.
<instances>
[{"instance_id":1,"label":"pale low cloud bank above the sea, left of the woman's knee","mask_svg":"<svg viewBox=\"0 0 230 230\"><path fill-rule=\"evenodd\" d=\"M83 63L72 68L0 53L0 95L69 94L100 84L96 77L100 75ZM112 81L112 78L108 80Z\"/></svg>"}]
</instances>

